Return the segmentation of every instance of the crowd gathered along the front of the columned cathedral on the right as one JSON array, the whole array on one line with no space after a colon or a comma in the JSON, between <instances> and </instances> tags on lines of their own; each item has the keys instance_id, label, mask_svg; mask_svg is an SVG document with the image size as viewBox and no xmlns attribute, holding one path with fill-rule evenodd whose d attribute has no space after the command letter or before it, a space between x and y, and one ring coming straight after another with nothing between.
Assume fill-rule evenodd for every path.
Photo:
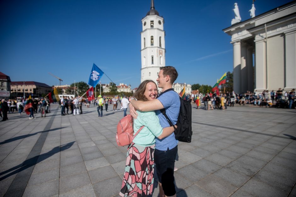
<instances>
[{"instance_id":1,"label":"crowd gathered along the front of the columned cathedral on the right","mask_svg":"<svg viewBox=\"0 0 296 197\"><path fill-rule=\"evenodd\" d=\"M247 91L246 93L235 93L234 91L226 93L196 93L187 94L186 100L196 103L197 109L203 105L204 110L213 109L227 109L227 106L234 106L235 104L245 105L252 104L259 107L276 107L276 108L288 108L294 109L296 106L295 101L295 89L291 91L286 91L283 93L282 89L279 88L278 91L272 90L269 92L265 90L258 93Z\"/></svg>"}]
</instances>

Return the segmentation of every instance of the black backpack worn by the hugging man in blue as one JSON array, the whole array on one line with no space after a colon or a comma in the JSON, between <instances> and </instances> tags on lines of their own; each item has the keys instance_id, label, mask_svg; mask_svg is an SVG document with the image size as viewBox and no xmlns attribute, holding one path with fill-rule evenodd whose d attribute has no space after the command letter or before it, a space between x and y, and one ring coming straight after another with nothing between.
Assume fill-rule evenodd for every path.
<instances>
[{"instance_id":1,"label":"black backpack worn by the hugging man in blue","mask_svg":"<svg viewBox=\"0 0 296 197\"><path fill-rule=\"evenodd\" d=\"M172 121L166 115L165 109L160 112L167 119L170 126L173 126ZM177 120L177 128L175 128L175 138L181 142L191 142L192 127L191 127L191 102L180 98L180 112Z\"/></svg>"}]
</instances>

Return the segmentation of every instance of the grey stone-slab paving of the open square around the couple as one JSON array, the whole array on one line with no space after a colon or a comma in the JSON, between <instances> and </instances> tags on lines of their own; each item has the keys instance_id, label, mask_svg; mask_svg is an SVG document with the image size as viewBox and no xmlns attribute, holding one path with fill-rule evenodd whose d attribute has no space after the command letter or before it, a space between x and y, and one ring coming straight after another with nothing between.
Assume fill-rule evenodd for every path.
<instances>
[{"instance_id":1,"label":"grey stone-slab paving of the open square around the couple","mask_svg":"<svg viewBox=\"0 0 296 197\"><path fill-rule=\"evenodd\" d=\"M123 111L9 114L0 123L0 196L119 196L127 147ZM179 143L177 196L296 196L296 111L253 106L197 110L192 142ZM158 196L157 175L153 197Z\"/></svg>"}]
</instances>

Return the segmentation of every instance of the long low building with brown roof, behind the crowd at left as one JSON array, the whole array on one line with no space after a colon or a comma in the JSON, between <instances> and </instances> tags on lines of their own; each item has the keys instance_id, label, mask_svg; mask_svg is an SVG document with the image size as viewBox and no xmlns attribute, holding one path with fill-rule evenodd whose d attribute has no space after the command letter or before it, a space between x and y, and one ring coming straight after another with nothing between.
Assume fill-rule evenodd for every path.
<instances>
[{"instance_id":1,"label":"long low building with brown roof, behind the crowd at left","mask_svg":"<svg viewBox=\"0 0 296 197\"><path fill-rule=\"evenodd\" d=\"M26 96L28 94L33 97L41 97L42 94L48 94L52 91L52 87L40 82L11 82L10 92L12 97Z\"/></svg>"}]
</instances>

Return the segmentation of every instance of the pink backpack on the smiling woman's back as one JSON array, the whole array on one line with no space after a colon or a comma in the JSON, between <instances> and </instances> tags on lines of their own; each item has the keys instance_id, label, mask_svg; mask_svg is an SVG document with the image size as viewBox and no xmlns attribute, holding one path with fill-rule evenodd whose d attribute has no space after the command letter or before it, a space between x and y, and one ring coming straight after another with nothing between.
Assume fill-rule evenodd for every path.
<instances>
[{"instance_id":1,"label":"pink backpack on the smiling woman's back","mask_svg":"<svg viewBox=\"0 0 296 197\"><path fill-rule=\"evenodd\" d=\"M117 124L116 142L118 146L126 146L133 142L136 135L144 128L142 126L134 134L134 119L128 114L123 117Z\"/></svg>"}]
</instances>

